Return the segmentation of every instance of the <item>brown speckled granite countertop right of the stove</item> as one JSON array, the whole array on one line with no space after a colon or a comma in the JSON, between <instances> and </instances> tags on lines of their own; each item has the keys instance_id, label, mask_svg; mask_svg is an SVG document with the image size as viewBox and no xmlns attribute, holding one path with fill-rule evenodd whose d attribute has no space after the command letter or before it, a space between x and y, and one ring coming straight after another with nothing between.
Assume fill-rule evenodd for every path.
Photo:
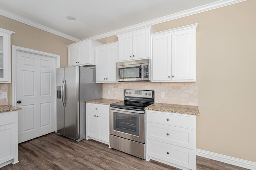
<instances>
[{"instance_id":1,"label":"brown speckled granite countertop right of the stove","mask_svg":"<svg viewBox=\"0 0 256 170\"><path fill-rule=\"evenodd\" d=\"M146 107L146 110L182 113L188 115L200 115L198 106L188 106L179 104L154 103Z\"/></svg>"}]
</instances>

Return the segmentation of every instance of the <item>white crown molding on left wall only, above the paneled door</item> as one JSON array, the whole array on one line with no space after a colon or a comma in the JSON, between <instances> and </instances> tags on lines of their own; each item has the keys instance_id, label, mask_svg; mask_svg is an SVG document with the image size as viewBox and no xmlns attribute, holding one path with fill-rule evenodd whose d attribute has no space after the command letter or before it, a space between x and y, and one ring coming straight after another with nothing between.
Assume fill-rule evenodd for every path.
<instances>
[{"instance_id":1,"label":"white crown molding on left wall only, above the paneled door","mask_svg":"<svg viewBox=\"0 0 256 170\"><path fill-rule=\"evenodd\" d=\"M75 42L81 41L80 39L77 39L77 38L72 37L70 35L66 35L66 34L64 34L64 33L60 32L60 31L56 31L55 29L51 29L49 27L46 27L44 25L41 25L41 24L36 23L34 21L31 21L31 20L28 20L28 19L23 18L21 16L18 16L16 14L12 14L12 13L10 13L8 11L5 11L5 10L2 10L2 9L0 9L0 15L5 16L7 18L10 18L12 20L16 20L16 21L25 23L25 24L30 25L32 27L36 27L38 29L42 29L42 30L47 31L49 33L53 33L53 34L58 35L60 37L63 37L63 38L66 38L66 39L70 39L70 40L75 41Z\"/></svg>"}]
</instances>

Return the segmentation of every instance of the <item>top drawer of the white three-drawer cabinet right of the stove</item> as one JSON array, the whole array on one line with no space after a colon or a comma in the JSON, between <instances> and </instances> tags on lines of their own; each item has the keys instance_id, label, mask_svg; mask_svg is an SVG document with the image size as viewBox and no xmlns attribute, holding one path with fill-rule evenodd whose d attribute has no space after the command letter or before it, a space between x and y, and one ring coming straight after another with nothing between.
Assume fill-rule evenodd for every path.
<instances>
[{"instance_id":1,"label":"top drawer of the white three-drawer cabinet right of the stove","mask_svg":"<svg viewBox=\"0 0 256 170\"><path fill-rule=\"evenodd\" d=\"M195 128L194 115L168 113L162 111L147 111L147 121L165 125Z\"/></svg>"}]
</instances>

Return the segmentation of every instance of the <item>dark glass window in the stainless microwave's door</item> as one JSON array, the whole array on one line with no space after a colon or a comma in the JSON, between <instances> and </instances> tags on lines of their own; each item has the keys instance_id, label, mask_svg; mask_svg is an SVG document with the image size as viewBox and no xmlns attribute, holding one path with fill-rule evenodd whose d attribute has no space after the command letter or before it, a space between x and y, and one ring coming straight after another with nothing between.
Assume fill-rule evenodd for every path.
<instances>
[{"instance_id":1,"label":"dark glass window in the stainless microwave's door","mask_svg":"<svg viewBox=\"0 0 256 170\"><path fill-rule=\"evenodd\" d=\"M140 78L140 66L119 68L119 78Z\"/></svg>"}]
</instances>

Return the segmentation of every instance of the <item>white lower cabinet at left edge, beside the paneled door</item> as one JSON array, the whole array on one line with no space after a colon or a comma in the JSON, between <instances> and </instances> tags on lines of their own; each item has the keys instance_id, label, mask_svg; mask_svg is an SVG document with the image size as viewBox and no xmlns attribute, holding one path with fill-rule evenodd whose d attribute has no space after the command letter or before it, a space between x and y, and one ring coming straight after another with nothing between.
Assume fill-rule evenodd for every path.
<instances>
[{"instance_id":1,"label":"white lower cabinet at left edge, beside the paneled door","mask_svg":"<svg viewBox=\"0 0 256 170\"><path fill-rule=\"evenodd\" d=\"M18 163L18 111L0 113L0 168Z\"/></svg>"}]
</instances>

